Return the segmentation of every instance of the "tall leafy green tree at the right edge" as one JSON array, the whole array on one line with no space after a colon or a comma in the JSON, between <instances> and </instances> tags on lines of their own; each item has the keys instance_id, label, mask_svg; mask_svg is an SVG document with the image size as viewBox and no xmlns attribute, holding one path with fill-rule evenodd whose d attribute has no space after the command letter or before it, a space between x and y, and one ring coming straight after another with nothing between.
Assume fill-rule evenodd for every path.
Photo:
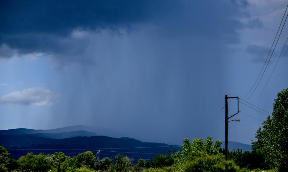
<instances>
[{"instance_id":1,"label":"tall leafy green tree at the right edge","mask_svg":"<svg viewBox=\"0 0 288 172\"><path fill-rule=\"evenodd\" d=\"M288 171L288 89L278 93L273 104L272 117L262 123L253 142L253 150L264 155L265 163L279 172Z\"/></svg>"}]
</instances>

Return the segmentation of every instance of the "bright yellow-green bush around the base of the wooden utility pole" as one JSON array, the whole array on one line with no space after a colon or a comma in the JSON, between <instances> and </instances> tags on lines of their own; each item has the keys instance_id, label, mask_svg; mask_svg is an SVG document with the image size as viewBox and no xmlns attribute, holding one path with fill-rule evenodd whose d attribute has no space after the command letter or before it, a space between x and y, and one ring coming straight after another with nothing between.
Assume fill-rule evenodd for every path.
<instances>
[{"instance_id":1,"label":"bright yellow-green bush around the base of the wooden utility pole","mask_svg":"<svg viewBox=\"0 0 288 172\"><path fill-rule=\"evenodd\" d=\"M183 171L224 172L226 165L228 172L236 172L240 170L240 168L232 160L228 160L226 162L223 155L217 155L217 156L208 155L197 157L193 161L188 161L185 164Z\"/></svg>"}]
</instances>

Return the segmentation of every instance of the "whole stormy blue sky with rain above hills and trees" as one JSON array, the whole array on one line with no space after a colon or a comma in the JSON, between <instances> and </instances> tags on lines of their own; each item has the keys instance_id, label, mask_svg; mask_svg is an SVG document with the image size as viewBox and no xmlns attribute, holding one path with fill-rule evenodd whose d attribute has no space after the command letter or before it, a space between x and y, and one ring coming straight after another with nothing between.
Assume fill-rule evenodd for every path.
<instances>
[{"instance_id":1,"label":"whole stormy blue sky with rain above hills and trees","mask_svg":"<svg viewBox=\"0 0 288 172\"><path fill-rule=\"evenodd\" d=\"M146 142L224 141L225 94L272 112L288 87L286 46L261 94L285 24L245 97L286 7L285 0L1 1L0 129L82 124ZM228 105L229 116L237 112L235 99ZM239 110L229 140L251 144L267 116L242 103Z\"/></svg>"}]
</instances>

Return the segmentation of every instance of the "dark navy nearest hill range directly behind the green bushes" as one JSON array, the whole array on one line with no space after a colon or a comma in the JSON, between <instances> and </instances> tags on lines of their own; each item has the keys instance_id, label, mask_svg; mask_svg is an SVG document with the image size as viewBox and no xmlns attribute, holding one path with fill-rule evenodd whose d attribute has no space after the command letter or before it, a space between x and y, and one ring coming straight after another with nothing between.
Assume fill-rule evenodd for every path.
<instances>
[{"instance_id":1,"label":"dark navy nearest hill range directly behind the green bushes","mask_svg":"<svg viewBox=\"0 0 288 172\"><path fill-rule=\"evenodd\" d=\"M119 151L121 154L134 159L143 157L149 160L158 153L167 153L170 150L170 145L164 143L149 143L133 138L107 136L51 139L31 135L0 135L0 145L4 146L15 159L26 155L28 152L53 154L61 151L67 156L75 156L87 150L91 150L93 153L101 150L101 156L103 157L112 157ZM181 150L181 146L174 146L173 151Z\"/></svg>"}]
</instances>

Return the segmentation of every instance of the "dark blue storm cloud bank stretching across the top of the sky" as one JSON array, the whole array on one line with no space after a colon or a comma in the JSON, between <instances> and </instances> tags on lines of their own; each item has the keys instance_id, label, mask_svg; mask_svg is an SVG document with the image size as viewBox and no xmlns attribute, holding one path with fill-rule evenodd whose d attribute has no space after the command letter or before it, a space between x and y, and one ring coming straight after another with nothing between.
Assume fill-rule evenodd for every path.
<instances>
[{"instance_id":1,"label":"dark blue storm cloud bank stretching across the top of the sky","mask_svg":"<svg viewBox=\"0 0 288 172\"><path fill-rule=\"evenodd\" d=\"M75 30L119 33L121 29L133 30L135 24L152 24L160 26L160 32L166 36L186 34L236 43L239 41L236 30L243 25L233 16L242 15L240 8L247 6L247 1L235 0L0 3L0 58L15 53L44 53L61 59L61 64L93 61L91 54L86 53L89 38L71 36ZM3 47L9 52L3 51Z\"/></svg>"}]
</instances>

